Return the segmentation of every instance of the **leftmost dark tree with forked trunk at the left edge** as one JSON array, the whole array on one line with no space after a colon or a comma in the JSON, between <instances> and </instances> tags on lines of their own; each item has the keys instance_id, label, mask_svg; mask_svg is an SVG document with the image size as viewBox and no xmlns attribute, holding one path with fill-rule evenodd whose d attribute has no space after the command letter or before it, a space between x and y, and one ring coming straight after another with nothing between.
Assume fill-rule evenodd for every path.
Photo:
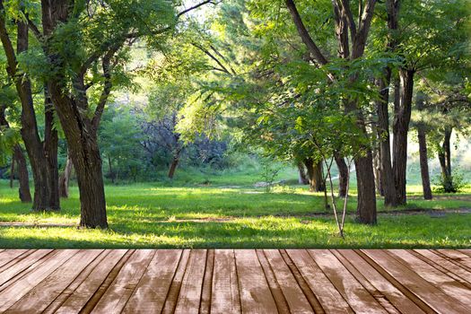
<instances>
[{"instance_id":1,"label":"leftmost dark tree with forked trunk at the left edge","mask_svg":"<svg viewBox=\"0 0 471 314\"><path fill-rule=\"evenodd\" d=\"M29 52L28 14L23 13L24 7L15 7L15 2L9 3L13 7L5 6L0 1L0 39L7 59L7 73L13 81L22 105L22 140L31 163L34 179L33 210L48 211L59 210L58 175L57 175L57 131L53 125L54 113L45 97L45 134L41 141L36 120L36 112L31 91L31 77L19 67L19 57ZM13 16L12 16L13 15ZM7 22L10 18L16 24L17 39L16 51Z\"/></svg>"}]
</instances>

